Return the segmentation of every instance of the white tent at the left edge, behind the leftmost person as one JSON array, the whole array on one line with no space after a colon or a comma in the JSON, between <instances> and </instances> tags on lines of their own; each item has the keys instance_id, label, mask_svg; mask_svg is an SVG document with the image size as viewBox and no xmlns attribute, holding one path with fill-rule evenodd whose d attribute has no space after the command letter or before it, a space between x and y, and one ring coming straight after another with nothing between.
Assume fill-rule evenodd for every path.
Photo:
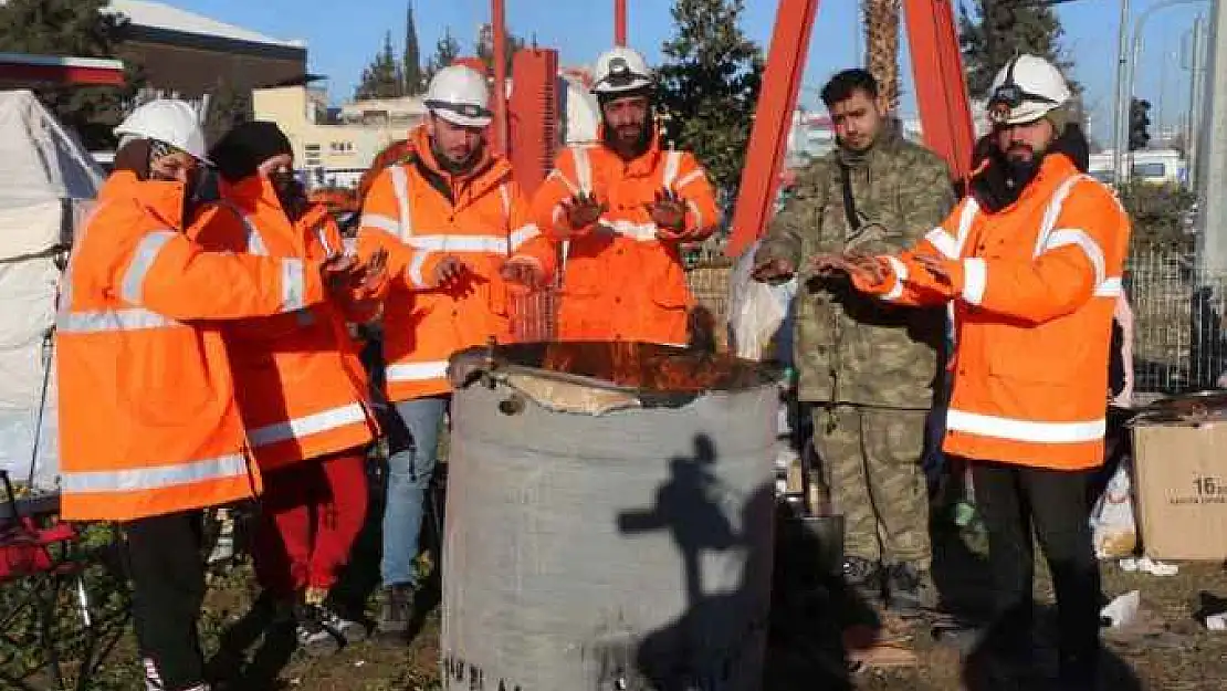
<instances>
[{"instance_id":1,"label":"white tent at the left edge, behind the leftmost person","mask_svg":"<svg viewBox=\"0 0 1227 691\"><path fill-rule=\"evenodd\" d=\"M101 185L102 171L33 93L0 92L0 469L39 488L54 488L59 469L60 268Z\"/></svg>"}]
</instances>

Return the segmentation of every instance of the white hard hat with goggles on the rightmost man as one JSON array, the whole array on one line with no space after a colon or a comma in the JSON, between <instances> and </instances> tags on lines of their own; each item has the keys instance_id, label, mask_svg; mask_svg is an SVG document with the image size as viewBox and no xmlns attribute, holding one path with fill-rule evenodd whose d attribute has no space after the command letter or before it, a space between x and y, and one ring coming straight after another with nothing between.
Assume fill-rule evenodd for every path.
<instances>
[{"instance_id":1,"label":"white hard hat with goggles on the rightmost man","mask_svg":"<svg viewBox=\"0 0 1227 691\"><path fill-rule=\"evenodd\" d=\"M989 119L1001 125L1036 122L1072 96L1060 70L1036 55L1010 60L993 80L989 95Z\"/></svg>"}]
</instances>

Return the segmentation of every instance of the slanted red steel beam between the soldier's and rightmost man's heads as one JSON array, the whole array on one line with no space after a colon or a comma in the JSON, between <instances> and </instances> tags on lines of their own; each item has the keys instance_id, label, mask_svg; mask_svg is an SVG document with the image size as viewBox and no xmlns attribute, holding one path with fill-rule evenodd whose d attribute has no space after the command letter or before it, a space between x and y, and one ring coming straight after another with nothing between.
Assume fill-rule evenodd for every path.
<instances>
[{"instance_id":1,"label":"slanted red steel beam between the soldier's and rightmost man's heads","mask_svg":"<svg viewBox=\"0 0 1227 691\"><path fill-rule=\"evenodd\" d=\"M971 174L975 130L953 9L950 0L903 1L924 142L963 180Z\"/></svg>"}]
</instances>

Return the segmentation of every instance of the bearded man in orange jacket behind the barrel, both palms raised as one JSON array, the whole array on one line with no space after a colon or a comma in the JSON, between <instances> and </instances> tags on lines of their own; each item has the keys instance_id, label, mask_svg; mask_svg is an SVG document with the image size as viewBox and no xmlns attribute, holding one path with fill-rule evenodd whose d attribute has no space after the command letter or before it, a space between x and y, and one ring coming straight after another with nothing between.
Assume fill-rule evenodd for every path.
<instances>
[{"instance_id":1,"label":"bearded man in orange jacket behind the barrel, both palms raised","mask_svg":"<svg viewBox=\"0 0 1227 691\"><path fill-rule=\"evenodd\" d=\"M693 156L661 147L642 55L615 48L594 79L601 144L563 150L533 201L564 248L558 338L685 345L694 299L679 245L715 230L715 194Z\"/></svg>"}]
</instances>

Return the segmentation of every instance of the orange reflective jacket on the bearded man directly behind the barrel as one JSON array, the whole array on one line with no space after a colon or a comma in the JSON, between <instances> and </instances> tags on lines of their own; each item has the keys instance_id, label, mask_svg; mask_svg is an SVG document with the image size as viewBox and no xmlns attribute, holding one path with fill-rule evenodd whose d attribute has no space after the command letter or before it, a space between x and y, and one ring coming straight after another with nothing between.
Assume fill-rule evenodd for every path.
<instances>
[{"instance_id":1,"label":"orange reflective jacket on the bearded man directly behind the barrel","mask_svg":"<svg viewBox=\"0 0 1227 691\"><path fill-rule=\"evenodd\" d=\"M601 145L560 152L533 201L537 226L557 233L566 223L561 203L578 191L609 205L595 231L563 245L561 340L686 342L694 298L679 243L656 239L645 207L664 188L686 203L688 241L710 236L719 223L715 193L690 153L665 151L659 140L633 161Z\"/></svg>"}]
</instances>

